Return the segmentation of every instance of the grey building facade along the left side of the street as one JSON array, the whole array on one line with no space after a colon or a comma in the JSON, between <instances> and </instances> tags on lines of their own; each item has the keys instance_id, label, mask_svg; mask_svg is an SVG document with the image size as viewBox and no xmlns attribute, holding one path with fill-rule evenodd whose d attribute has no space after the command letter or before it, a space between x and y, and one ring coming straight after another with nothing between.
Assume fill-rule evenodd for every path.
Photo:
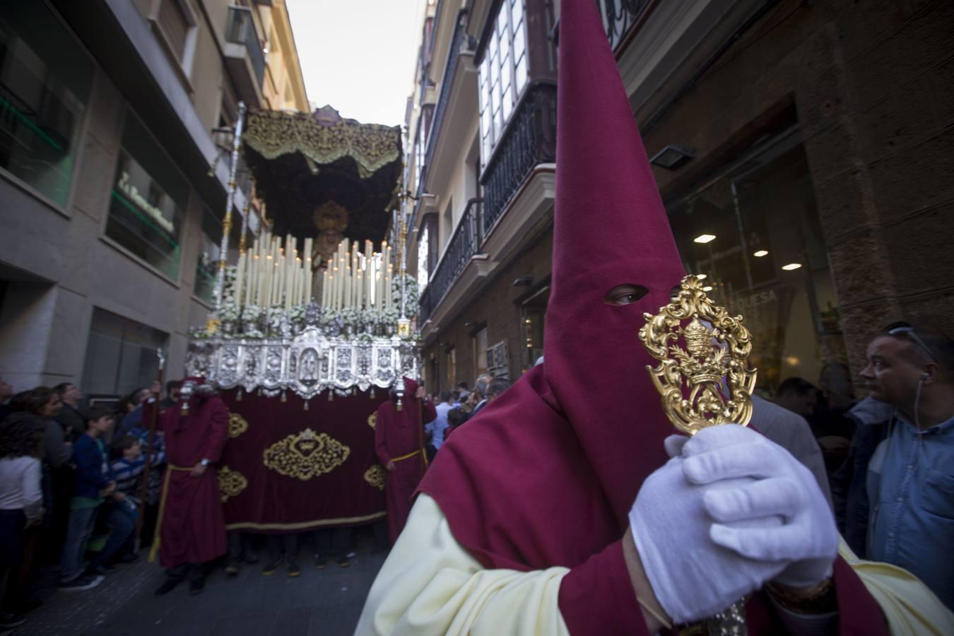
<instances>
[{"instance_id":1,"label":"grey building facade along the left side of the street","mask_svg":"<svg viewBox=\"0 0 954 636\"><path fill-rule=\"evenodd\" d=\"M231 159L214 130L239 100L267 108L266 71L301 78L293 54L268 68L263 34L282 32L282 6L0 8L0 374L17 390L73 381L115 397L155 378L158 347L181 375L219 260ZM282 107L306 109L291 84ZM235 247L242 192L234 205ZM257 230L254 207L245 225Z\"/></svg>"}]
</instances>

